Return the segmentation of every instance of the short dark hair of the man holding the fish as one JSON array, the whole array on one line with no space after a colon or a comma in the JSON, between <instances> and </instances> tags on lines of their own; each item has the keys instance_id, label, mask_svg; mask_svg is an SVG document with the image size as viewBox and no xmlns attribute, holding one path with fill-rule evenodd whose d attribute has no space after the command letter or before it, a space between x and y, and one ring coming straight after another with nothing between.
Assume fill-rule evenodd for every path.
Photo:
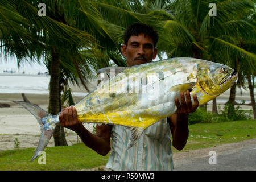
<instances>
[{"instance_id":1,"label":"short dark hair of the man holding the fish","mask_svg":"<svg viewBox=\"0 0 256 182\"><path fill-rule=\"evenodd\" d=\"M123 34L123 40L125 40L126 46L130 37L138 36L138 34L150 36L153 39L154 47L156 46L156 43L158 43L158 32L156 32L153 27L140 22L135 22L131 24L126 29L125 34Z\"/></svg>"}]
</instances>

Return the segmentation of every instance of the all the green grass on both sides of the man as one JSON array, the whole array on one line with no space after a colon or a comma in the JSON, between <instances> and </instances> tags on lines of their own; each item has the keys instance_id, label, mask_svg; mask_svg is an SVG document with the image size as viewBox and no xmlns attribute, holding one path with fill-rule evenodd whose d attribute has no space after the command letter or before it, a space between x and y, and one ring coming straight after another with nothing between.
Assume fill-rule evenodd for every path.
<instances>
[{"instance_id":1,"label":"all the green grass on both sides of the man","mask_svg":"<svg viewBox=\"0 0 256 182\"><path fill-rule=\"evenodd\" d=\"M224 143L240 142L256 138L256 120L199 123L189 125L189 138L182 151L217 146ZM178 152L172 147L174 152ZM38 158L29 160L35 148L7 150L0 152L2 170L81 170L106 164L109 154L101 156L83 143L65 147L47 147L46 165L38 164Z\"/></svg>"}]
</instances>

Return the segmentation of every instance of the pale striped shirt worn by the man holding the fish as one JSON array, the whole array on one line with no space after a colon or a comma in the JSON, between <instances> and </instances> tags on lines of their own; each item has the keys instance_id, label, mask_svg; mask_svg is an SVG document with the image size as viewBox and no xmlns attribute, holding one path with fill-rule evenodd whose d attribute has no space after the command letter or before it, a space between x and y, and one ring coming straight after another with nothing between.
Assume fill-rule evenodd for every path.
<instances>
[{"instance_id":1,"label":"pale striped shirt worn by the man holding the fish","mask_svg":"<svg viewBox=\"0 0 256 182\"><path fill-rule=\"evenodd\" d=\"M148 127L138 142L126 150L131 133L123 126L113 125L112 151L106 169L172 170L171 129L167 118Z\"/></svg>"}]
</instances>

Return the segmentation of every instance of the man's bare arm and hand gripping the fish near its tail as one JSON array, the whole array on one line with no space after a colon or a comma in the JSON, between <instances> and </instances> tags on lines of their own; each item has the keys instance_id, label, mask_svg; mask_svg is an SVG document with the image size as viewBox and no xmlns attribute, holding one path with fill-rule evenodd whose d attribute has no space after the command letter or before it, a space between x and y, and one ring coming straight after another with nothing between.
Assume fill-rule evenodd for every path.
<instances>
[{"instance_id":1,"label":"man's bare arm and hand gripping the fish near its tail","mask_svg":"<svg viewBox=\"0 0 256 182\"><path fill-rule=\"evenodd\" d=\"M96 135L90 133L81 122L77 120L75 107L67 107L61 111L59 116L62 127L75 131L82 142L100 155L106 155L110 151L110 125L97 125Z\"/></svg>"}]
</instances>

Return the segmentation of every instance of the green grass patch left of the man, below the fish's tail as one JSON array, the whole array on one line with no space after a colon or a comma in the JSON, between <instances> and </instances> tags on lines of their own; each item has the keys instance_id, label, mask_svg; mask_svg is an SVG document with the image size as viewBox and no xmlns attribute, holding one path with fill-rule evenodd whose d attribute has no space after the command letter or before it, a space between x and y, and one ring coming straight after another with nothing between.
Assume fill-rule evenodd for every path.
<instances>
[{"instance_id":1,"label":"green grass patch left of the man, below the fish's tail","mask_svg":"<svg viewBox=\"0 0 256 182\"><path fill-rule=\"evenodd\" d=\"M81 170L102 166L108 162L109 154L101 156L83 143L73 146L47 147L46 165L32 162L35 148L7 150L0 152L0 171L2 170Z\"/></svg>"}]
</instances>

